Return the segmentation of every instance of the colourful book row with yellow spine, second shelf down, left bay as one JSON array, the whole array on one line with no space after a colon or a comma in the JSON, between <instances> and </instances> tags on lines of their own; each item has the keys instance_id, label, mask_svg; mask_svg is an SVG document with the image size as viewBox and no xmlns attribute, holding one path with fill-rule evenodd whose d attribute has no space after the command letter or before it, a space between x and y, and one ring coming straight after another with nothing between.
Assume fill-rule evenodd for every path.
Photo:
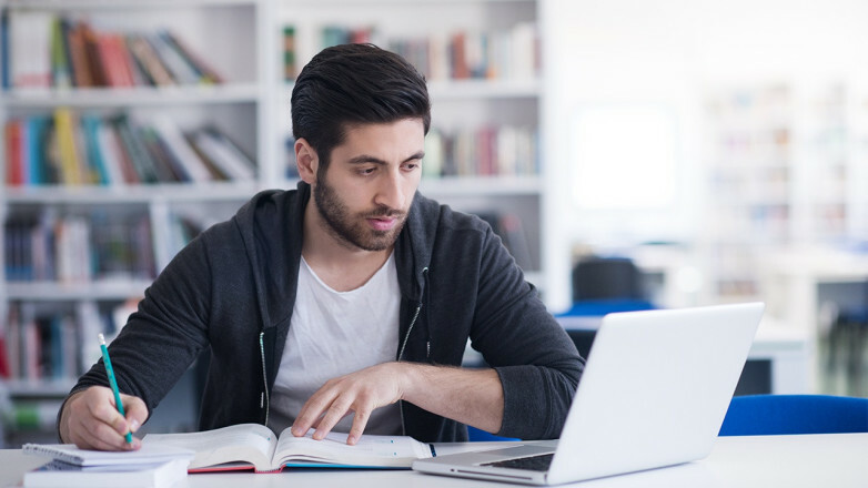
<instances>
[{"instance_id":1,"label":"colourful book row with yellow spine, second shelf down, left bay","mask_svg":"<svg viewBox=\"0 0 868 488\"><path fill-rule=\"evenodd\" d=\"M164 114L135 120L59 108L4 130L7 184L125 185L251 181L255 163L214 126L182 131Z\"/></svg>"}]
</instances>

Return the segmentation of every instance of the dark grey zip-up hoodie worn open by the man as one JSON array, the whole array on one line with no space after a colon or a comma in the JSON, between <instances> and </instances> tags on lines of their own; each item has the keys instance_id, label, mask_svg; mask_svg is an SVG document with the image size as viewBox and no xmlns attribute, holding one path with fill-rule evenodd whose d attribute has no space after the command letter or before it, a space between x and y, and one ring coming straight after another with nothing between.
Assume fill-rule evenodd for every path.
<instances>
[{"instance_id":1,"label":"dark grey zip-up hoodie worn open by the man","mask_svg":"<svg viewBox=\"0 0 868 488\"><path fill-rule=\"evenodd\" d=\"M265 424L286 342L310 186L265 191L184 247L110 346L121 392L152 410L204 349L200 428ZM395 243L395 359L458 366L467 339L503 384L499 435L556 438L584 367L573 343L481 218L416 194ZM303 374L303 373L302 373ZM73 392L107 385L101 364ZM401 405L404 433L466 440L466 427Z\"/></svg>"}]
</instances>

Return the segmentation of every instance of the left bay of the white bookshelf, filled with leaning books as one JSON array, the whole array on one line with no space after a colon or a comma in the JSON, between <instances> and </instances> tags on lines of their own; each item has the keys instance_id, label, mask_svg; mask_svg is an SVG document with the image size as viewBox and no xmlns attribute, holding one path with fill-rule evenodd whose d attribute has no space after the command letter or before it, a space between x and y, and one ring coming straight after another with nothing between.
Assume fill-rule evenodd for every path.
<instances>
[{"instance_id":1,"label":"left bay of the white bookshelf, filled with leaning books","mask_svg":"<svg viewBox=\"0 0 868 488\"><path fill-rule=\"evenodd\" d=\"M27 141L41 133L34 129L38 124L52 128L41 139L43 148L30 145L34 142L19 146L6 132L0 141L4 155L0 166L0 323L11 364L0 388L7 408L0 410L12 444L52 440L57 404L99 357L89 338L102 331L111 336L131 312L131 304L198 230L228 218L253 193L279 180L269 132L274 93L270 73L276 68L265 27L271 22L270 9L271 2L262 0L0 1L4 17L0 42L8 73L0 92L0 123L24 128L31 138ZM73 59L72 32L87 26L97 40L95 51L90 52L97 52L102 63L88 65L91 75L103 73L102 82L80 82L85 78L77 78L72 68L65 75L58 74L57 68L44 72L57 62L21 67L21 60L31 59L32 52L17 51L23 49L17 40L24 35L14 27L17 22L49 22L50 28L36 29L43 34L43 30L51 33L55 23L60 26L57 32L62 35L55 35L68 45L68 60ZM44 39L24 38L28 44L46 47ZM121 48L103 48L103 40L110 38L121 39ZM174 48L174 55L185 51L202 61L196 64L198 78L181 77L182 67L175 64L174 71L169 70L174 82L159 85L151 72L135 68L137 62L145 64L135 58L128 64L133 67L128 68L132 82L111 82L105 73L117 74L118 52L131 57L135 38L147 38L155 50L161 39L170 49L166 39L176 39L182 48ZM165 60L172 54L160 54L169 68ZM44 77L18 77L26 70ZM219 80L206 80L203 73L208 70ZM147 181L121 129L113 125L121 115L129 120L131 133L141 138L139 143L145 144L155 167L175 166L170 165L169 172L163 167L155 181ZM70 167L78 167L82 175L77 181L68 179L67 166L57 165L70 153L60 149L63 118L71 121L78 166ZM95 128L92 139L89 123ZM211 141L205 129L231 144ZM101 130L109 135L103 138ZM158 138L145 139L149 133ZM205 135L194 143L193 134ZM178 135L181 139L172 142ZM112 140L114 146L107 142ZM239 152L220 156L231 160L225 163L215 160L214 148L223 151L226 148ZM48 150L55 153L39 152ZM193 156L184 152L191 150ZM10 157L16 154L10 151L23 151L27 157ZM101 165L94 163L94 154L100 154ZM191 166L195 161L200 162L198 170ZM114 173L109 170L112 165ZM13 174L22 177L22 173L26 179L12 181ZM111 174L117 177L107 176Z\"/></svg>"}]
</instances>

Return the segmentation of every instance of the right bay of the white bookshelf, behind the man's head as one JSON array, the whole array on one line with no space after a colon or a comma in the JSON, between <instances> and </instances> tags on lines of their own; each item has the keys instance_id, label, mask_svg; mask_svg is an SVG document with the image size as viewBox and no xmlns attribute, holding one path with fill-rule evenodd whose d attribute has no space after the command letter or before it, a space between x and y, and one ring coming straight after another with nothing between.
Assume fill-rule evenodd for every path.
<instances>
[{"instance_id":1,"label":"right bay of the white bookshelf, behind the man's head","mask_svg":"<svg viewBox=\"0 0 868 488\"><path fill-rule=\"evenodd\" d=\"M283 59L293 64L284 62L277 70L283 82L280 106L289 106L293 74L335 39L370 41L413 62L428 80L432 98L420 190L461 211L494 212L513 222L517 217L514 238L523 240L517 245L526 248L519 264L545 296L539 3L284 0L275 31L284 41L291 33L281 49L292 47ZM447 62L447 52L461 54ZM277 120L279 136L291 133L289 111L281 111ZM467 141L476 145L468 148ZM493 150L487 152L480 141ZM283 140L275 145L291 146ZM291 155L283 159L289 163Z\"/></svg>"}]
</instances>

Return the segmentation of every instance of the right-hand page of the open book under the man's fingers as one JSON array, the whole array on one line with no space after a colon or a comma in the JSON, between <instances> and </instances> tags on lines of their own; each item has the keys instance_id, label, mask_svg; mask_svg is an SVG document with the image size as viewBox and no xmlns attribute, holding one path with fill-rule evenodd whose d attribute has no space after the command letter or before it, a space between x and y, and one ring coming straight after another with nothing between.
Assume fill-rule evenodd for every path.
<instances>
[{"instance_id":1,"label":"right-hand page of the open book under the man's fingers","mask_svg":"<svg viewBox=\"0 0 868 488\"><path fill-rule=\"evenodd\" d=\"M367 467L406 467L414 459L431 457L431 448L408 436L363 435L355 446L346 444L347 434L330 433L314 440L311 429L304 437L283 430L274 453L274 465L326 464Z\"/></svg>"}]
</instances>

